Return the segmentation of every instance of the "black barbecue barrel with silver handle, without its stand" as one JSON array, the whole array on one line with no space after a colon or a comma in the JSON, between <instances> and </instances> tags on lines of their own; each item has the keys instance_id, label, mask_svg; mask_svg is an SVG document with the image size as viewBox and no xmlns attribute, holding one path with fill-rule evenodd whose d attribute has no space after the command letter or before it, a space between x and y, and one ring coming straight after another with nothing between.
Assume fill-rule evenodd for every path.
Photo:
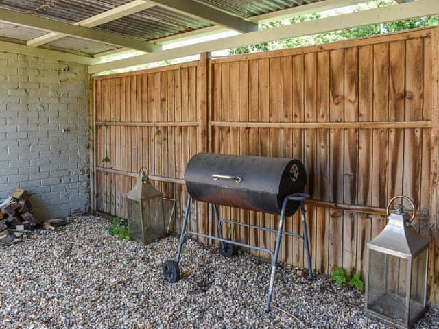
<instances>
[{"instance_id":1,"label":"black barbecue barrel with silver handle, without its stand","mask_svg":"<svg viewBox=\"0 0 439 329\"><path fill-rule=\"evenodd\" d=\"M199 153L185 171L187 192L198 201L281 215L285 197L303 192L305 167L299 160ZM293 215L290 202L285 215Z\"/></svg>"}]
</instances>

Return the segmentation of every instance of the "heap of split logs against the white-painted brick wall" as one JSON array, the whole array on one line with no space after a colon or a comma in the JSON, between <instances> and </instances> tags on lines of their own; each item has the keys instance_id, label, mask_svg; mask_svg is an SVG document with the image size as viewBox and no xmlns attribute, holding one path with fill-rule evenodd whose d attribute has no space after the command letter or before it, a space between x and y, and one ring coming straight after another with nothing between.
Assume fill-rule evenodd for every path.
<instances>
[{"instance_id":1,"label":"heap of split logs against the white-painted brick wall","mask_svg":"<svg viewBox=\"0 0 439 329\"><path fill-rule=\"evenodd\" d=\"M16 188L8 199L0 203L0 245L16 243L26 236L26 231L36 226L32 204L27 191Z\"/></svg>"}]
</instances>

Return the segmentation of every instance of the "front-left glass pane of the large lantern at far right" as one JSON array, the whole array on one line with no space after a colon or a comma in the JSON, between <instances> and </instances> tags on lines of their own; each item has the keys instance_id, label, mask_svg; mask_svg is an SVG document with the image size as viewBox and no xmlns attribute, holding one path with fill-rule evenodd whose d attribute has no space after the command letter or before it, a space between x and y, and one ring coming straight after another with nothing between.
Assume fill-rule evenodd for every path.
<instances>
[{"instance_id":1,"label":"front-left glass pane of the large lantern at far right","mask_svg":"<svg viewBox=\"0 0 439 329\"><path fill-rule=\"evenodd\" d=\"M407 265L404 258L369 249L368 309L405 323Z\"/></svg>"}]
</instances>

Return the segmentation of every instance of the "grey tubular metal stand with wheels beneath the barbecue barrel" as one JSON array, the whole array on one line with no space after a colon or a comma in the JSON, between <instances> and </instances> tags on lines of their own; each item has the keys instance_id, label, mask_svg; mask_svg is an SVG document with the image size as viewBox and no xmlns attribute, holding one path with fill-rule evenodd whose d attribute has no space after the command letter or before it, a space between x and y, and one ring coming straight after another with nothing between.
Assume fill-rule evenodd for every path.
<instances>
[{"instance_id":1,"label":"grey tubular metal stand with wheels beneath the barbecue barrel","mask_svg":"<svg viewBox=\"0 0 439 329\"><path fill-rule=\"evenodd\" d=\"M217 221L217 228L218 228L218 235L219 235L219 237L217 237L217 236L211 236L211 235L207 235L207 234L202 234L202 233L186 230L187 219L189 217L189 212L191 211L191 200L192 200L192 197L189 195L189 198L187 199L187 204L186 204L185 217L183 219L182 231L180 234L180 243L178 243L177 258L175 261L168 260L163 265L163 276L164 276L165 280L167 280L168 282L171 282L171 283L176 282L178 280L178 276L180 273L180 271L178 269L178 264L180 263L182 247L183 247L183 243L185 243L185 238L186 238L187 234L192 234L195 236L201 236L201 237L206 238L206 239L213 239L213 240L219 241L220 248L222 251L223 250L226 251L226 245L229 244L229 245L239 245L239 247L247 247L247 248L251 248L251 249L257 249L261 252L268 252L268 254L270 254L271 259L272 259L272 273L270 276L270 286L268 288L267 304L265 306L265 311L268 312L270 310L270 304L272 301L274 277L276 274L276 263L277 263L277 258L279 255L279 249L281 249L280 247L281 247L281 240L282 240L283 234L288 235L288 236L295 236L296 238L302 239L303 247L305 247L305 251L307 253L308 276L309 276L310 280L313 279L313 271L312 271L312 267L311 267L311 253L309 252L307 221L305 219L305 199L308 199L308 198L309 198L309 195L305 194L305 193L294 193L292 195L285 197L285 199L283 200L283 203L282 203L281 219L279 220L278 230L272 230L270 228L265 228L264 226L256 226L256 225L250 225L250 224L246 224L246 223L239 223L237 221L228 221L226 219L219 219L218 207L216 204L212 204L213 212L215 213L215 219ZM292 201L300 203L299 208L300 208L300 215L302 218L303 235L283 231L283 223L285 221L285 209L287 208L288 202L292 202ZM248 245L246 243L240 243L237 241L224 239L222 236L222 223L233 223L233 224L237 224L239 226L256 228L257 230L277 232L276 248L274 249L274 254L270 249L265 249L262 247L257 247L255 245ZM231 247L231 246L228 246L228 247ZM225 254L224 256L228 256L228 255L226 255L227 252L222 252L222 254ZM230 256L231 256L231 254L230 254Z\"/></svg>"}]
</instances>

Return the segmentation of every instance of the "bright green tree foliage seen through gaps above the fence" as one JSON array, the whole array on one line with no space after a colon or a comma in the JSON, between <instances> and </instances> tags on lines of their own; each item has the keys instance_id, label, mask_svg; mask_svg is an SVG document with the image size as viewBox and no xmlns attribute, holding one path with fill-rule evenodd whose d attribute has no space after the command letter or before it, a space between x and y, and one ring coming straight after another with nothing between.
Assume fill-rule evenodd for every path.
<instances>
[{"instance_id":1,"label":"bright green tree foliage seen through gaps above the fence","mask_svg":"<svg viewBox=\"0 0 439 329\"><path fill-rule=\"evenodd\" d=\"M369 3L368 5L357 5L353 12L358 12L365 9L379 8L387 5L394 4L393 0L380 0ZM305 16L296 16L289 20L289 23L294 25L295 23L312 21L322 18L322 14L315 13ZM352 29L342 29L334 32L324 32L320 34L314 34L313 36L302 36L299 38L287 38L284 40L277 40L273 42L264 42L257 45L243 46L234 49L230 49L231 55L237 55L241 53L254 53L259 51L270 51L278 49L289 49L295 47L304 47L311 45L319 45L322 43L335 42L341 40L348 40L352 38L361 38L364 36L374 36L377 34L385 34L403 31L405 29L415 29L420 27L428 27L437 25L437 16L419 17L415 19L407 19L404 21L396 21L382 24L366 25L361 27L354 27ZM285 25L282 21L275 21L271 23L262 24L260 29L268 29L272 27L279 27ZM292 26L292 28L294 28Z\"/></svg>"}]
</instances>

